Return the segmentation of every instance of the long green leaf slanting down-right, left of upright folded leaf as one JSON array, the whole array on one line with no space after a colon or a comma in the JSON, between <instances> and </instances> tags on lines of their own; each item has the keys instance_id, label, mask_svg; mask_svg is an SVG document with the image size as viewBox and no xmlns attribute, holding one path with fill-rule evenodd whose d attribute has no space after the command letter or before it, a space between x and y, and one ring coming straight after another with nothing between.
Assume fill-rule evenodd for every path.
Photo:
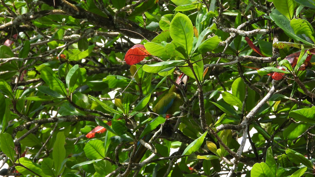
<instances>
[{"instance_id":1,"label":"long green leaf slanting down-right, left of upright folded leaf","mask_svg":"<svg viewBox=\"0 0 315 177\"><path fill-rule=\"evenodd\" d=\"M58 93L62 95L67 94L67 90L65 88L64 83L60 81L60 79L57 77L57 75L54 73L54 71L46 66L42 69L41 75L42 79L45 81L45 83L48 84L49 88L57 91Z\"/></svg>"}]
</instances>

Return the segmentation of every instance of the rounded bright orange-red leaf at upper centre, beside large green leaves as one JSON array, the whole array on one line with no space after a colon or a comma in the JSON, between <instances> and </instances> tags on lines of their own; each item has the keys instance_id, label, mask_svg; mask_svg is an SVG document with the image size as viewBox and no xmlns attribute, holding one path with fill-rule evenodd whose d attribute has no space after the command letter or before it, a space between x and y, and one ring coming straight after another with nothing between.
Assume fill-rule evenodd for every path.
<instances>
[{"instance_id":1,"label":"rounded bright orange-red leaf at upper centre, beside large green leaves","mask_svg":"<svg viewBox=\"0 0 315 177\"><path fill-rule=\"evenodd\" d=\"M134 65L150 55L151 54L146 51L144 45L136 44L127 51L125 55L125 61L128 65Z\"/></svg>"}]
</instances>

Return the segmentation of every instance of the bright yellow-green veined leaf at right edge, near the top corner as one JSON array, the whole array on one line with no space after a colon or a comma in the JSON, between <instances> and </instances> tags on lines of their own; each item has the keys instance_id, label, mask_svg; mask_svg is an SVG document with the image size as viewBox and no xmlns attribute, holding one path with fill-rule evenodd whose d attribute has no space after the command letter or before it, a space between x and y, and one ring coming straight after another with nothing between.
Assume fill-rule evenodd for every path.
<instances>
[{"instance_id":1,"label":"bright yellow-green veined leaf at right edge, near the top corner","mask_svg":"<svg viewBox=\"0 0 315 177\"><path fill-rule=\"evenodd\" d=\"M292 29L294 30L295 34L304 34L307 37L309 37L312 41L315 42L315 38L313 36L314 29L310 22L304 19L292 19L290 21L290 25Z\"/></svg>"}]
</instances>

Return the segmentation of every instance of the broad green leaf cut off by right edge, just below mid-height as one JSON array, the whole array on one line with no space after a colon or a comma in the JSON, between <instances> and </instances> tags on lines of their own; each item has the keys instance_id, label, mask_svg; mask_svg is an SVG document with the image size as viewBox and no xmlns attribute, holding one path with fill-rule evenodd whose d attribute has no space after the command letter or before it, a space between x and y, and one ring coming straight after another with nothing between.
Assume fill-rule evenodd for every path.
<instances>
[{"instance_id":1,"label":"broad green leaf cut off by right edge, just below mid-height","mask_svg":"<svg viewBox=\"0 0 315 177\"><path fill-rule=\"evenodd\" d=\"M307 122L307 123L315 123L315 106L311 108L302 108L289 112L289 117L294 118L295 120Z\"/></svg>"}]
</instances>

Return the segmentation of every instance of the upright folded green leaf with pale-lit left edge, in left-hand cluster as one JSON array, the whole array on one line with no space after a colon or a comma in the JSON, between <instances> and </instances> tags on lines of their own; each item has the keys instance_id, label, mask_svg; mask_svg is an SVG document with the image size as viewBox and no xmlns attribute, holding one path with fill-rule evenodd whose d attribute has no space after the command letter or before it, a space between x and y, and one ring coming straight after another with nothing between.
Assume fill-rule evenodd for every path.
<instances>
[{"instance_id":1,"label":"upright folded green leaf with pale-lit left edge, in left-hand cluster","mask_svg":"<svg viewBox=\"0 0 315 177\"><path fill-rule=\"evenodd\" d=\"M86 69L79 68L79 65L74 65L66 76L66 84L69 89L69 94L73 93L77 87L85 82Z\"/></svg>"}]
</instances>

